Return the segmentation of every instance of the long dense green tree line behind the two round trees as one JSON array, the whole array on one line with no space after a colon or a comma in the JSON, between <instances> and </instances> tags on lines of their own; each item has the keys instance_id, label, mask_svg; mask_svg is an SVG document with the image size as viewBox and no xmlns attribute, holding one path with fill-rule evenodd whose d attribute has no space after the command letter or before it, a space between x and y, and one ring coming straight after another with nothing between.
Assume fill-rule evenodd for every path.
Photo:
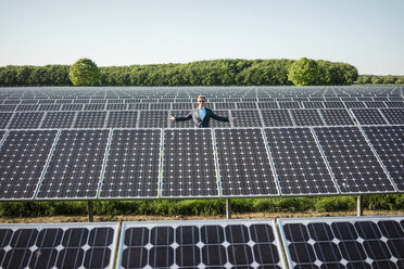
<instances>
[{"instance_id":1,"label":"long dense green tree line behind the two round trees","mask_svg":"<svg viewBox=\"0 0 404 269\"><path fill-rule=\"evenodd\" d=\"M213 60L186 64L99 67L100 86L290 86L288 68L295 60ZM346 63L315 61L311 85L352 85L357 69ZM70 65L0 67L0 86L73 86Z\"/></svg>"}]
</instances>

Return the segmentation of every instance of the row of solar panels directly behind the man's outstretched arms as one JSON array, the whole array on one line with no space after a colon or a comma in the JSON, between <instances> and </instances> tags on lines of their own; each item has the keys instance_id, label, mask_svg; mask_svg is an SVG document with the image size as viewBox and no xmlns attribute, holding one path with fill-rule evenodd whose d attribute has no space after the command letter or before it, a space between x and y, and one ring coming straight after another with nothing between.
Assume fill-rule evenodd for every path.
<instances>
[{"instance_id":1,"label":"row of solar panels directly behind the man's outstretched arms","mask_svg":"<svg viewBox=\"0 0 404 269\"><path fill-rule=\"evenodd\" d=\"M211 120L212 128L404 124L404 108L240 110L215 113L231 115L236 120ZM194 127L192 120L167 120L169 115L188 114L189 111L4 112L0 113L0 129Z\"/></svg>"}]
</instances>

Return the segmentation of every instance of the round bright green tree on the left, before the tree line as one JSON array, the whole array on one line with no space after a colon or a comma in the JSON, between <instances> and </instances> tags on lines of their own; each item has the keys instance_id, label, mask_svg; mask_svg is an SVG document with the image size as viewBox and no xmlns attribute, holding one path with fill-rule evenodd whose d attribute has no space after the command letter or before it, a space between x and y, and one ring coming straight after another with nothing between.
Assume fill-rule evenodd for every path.
<instances>
[{"instance_id":1,"label":"round bright green tree on the left, before the tree line","mask_svg":"<svg viewBox=\"0 0 404 269\"><path fill-rule=\"evenodd\" d=\"M100 84L100 71L90 59L83 57L74 63L68 77L75 86L94 86Z\"/></svg>"}]
</instances>

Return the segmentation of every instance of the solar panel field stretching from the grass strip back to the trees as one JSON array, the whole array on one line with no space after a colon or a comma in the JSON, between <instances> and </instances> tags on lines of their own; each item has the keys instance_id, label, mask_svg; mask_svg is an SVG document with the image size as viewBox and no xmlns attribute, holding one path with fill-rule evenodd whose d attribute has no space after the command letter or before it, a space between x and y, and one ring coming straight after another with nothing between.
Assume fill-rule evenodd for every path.
<instances>
[{"instance_id":1,"label":"solar panel field stretching from the grass strip back to the trees","mask_svg":"<svg viewBox=\"0 0 404 269\"><path fill-rule=\"evenodd\" d=\"M167 120L199 94L236 120ZM402 192L403 104L403 87L5 88L0 200Z\"/></svg>"}]
</instances>

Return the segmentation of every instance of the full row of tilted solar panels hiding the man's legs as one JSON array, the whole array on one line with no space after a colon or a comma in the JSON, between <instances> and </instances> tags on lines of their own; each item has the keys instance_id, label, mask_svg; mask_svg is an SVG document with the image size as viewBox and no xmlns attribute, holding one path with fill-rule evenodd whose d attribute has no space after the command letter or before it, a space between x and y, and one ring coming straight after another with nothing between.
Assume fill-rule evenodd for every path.
<instances>
[{"instance_id":1,"label":"full row of tilted solar panels hiding the man's legs","mask_svg":"<svg viewBox=\"0 0 404 269\"><path fill-rule=\"evenodd\" d=\"M0 136L2 201L404 191L404 126L10 130Z\"/></svg>"}]
</instances>

